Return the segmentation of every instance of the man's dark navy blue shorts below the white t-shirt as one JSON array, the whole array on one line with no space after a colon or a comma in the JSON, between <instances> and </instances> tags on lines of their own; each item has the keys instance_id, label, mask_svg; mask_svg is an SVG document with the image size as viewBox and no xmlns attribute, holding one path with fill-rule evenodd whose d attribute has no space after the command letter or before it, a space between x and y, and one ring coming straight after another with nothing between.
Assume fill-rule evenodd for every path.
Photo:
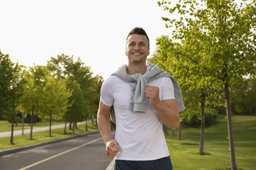
<instances>
[{"instance_id":1,"label":"man's dark navy blue shorts below the white t-shirt","mask_svg":"<svg viewBox=\"0 0 256 170\"><path fill-rule=\"evenodd\" d=\"M169 156L151 161L116 160L115 170L172 170Z\"/></svg>"}]
</instances>

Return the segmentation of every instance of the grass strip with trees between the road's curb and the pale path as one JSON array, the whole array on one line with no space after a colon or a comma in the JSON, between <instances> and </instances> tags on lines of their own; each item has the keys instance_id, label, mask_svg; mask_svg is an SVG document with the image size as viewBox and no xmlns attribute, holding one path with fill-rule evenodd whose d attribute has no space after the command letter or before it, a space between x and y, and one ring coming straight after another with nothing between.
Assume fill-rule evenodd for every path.
<instances>
[{"instance_id":1,"label":"grass strip with trees between the road's curb and the pale path","mask_svg":"<svg viewBox=\"0 0 256 170\"><path fill-rule=\"evenodd\" d=\"M61 139L61 138L66 138L70 136L76 136L76 135L81 135L84 133L88 132L93 132L93 131L98 131L98 126L92 125L92 123L88 123L88 132L85 130L85 124L78 125L79 129L75 129L75 133L72 133L72 130L69 130L67 126L67 134L64 135L64 128L61 129L54 129L52 130L52 137L49 137L49 130L47 131L42 131L42 132L36 132L33 133L33 140L29 140L30 138L30 133L18 136L13 136L14 138L14 143L15 144L10 144L10 137L4 137L0 138L0 150L5 150L5 149L10 149L10 148L15 148L15 147L22 147L22 146L27 146L31 144L37 144L41 142L46 142L50 140L55 140L55 139Z\"/></svg>"}]
</instances>

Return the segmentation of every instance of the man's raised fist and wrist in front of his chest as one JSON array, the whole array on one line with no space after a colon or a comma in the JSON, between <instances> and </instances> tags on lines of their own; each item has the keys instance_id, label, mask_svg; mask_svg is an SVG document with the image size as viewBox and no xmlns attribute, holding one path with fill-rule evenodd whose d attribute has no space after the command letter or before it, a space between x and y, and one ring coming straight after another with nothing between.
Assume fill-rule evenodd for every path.
<instances>
[{"instance_id":1,"label":"man's raised fist and wrist in front of his chest","mask_svg":"<svg viewBox=\"0 0 256 170\"><path fill-rule=\"evenodd\" d=\"M159 88L156 86L152 85L146 85L146 90L145 90L146 97L151 99L151 105L155 107L158 105L161 100L159 98Z\"/></svg>"}]
</instances>

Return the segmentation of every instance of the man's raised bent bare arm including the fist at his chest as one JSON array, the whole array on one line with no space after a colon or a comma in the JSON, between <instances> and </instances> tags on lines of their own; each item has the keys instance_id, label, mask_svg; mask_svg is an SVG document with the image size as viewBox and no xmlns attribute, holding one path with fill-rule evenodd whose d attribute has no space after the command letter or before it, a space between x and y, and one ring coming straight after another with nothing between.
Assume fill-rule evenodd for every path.
<instances>
[{"instance_id":1,"label":"man's raised bent bare arm including the fist at his chest","mask_svg":"<svg viewBox=\"0 0 256 170\"><path fill-rule=\"evenodd\" d=\"M151 85L146 85L146 87L146 97L151 99L151 105L156 109L162 122L171 127L172 130L177 129L180 125L180 113L176 100L166 99L161 101L158 87Z\"/></svg>"}]
</instances>

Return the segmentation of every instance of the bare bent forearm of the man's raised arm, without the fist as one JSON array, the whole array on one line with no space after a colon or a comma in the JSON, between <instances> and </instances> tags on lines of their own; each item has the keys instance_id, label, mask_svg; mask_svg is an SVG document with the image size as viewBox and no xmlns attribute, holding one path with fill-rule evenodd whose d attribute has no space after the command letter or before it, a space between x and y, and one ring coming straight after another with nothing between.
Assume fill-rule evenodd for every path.
<instances>
[{"instance_id":1,"label":"bare bent forearm of the man's raised arm, without the fist","mask_svg":"<svg viewBox=\"0 0 256 170\"><path fill-rule=\"evenodd\" d=\"M177 129L180 125L180 114L177 111L173 111L172 109L169 109L166 105L163 104L163 102L159 102L154 107L162 120L162 122L171 127L172 130Z\"/></svg>"}]
</instances>

